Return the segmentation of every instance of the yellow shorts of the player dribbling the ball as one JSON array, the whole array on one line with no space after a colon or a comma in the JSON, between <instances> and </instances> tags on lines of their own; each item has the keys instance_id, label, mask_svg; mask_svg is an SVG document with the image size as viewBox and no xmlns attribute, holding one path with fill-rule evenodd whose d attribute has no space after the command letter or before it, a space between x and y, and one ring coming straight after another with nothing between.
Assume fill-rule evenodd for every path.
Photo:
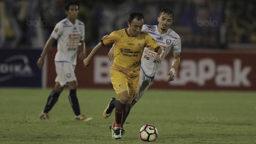
<instances>
[{"instance_id":1,"label":"yellow shorts of the player dribbling the ball","mask_svg":"<svg viewBox=\"0 0 256 144\"><path fill-rule=\"evenodd\" d=\"M116 91L116 95L119 97L121 92L128 91L128 104L131 104L132 100L134 100L134 95L137 92L139 77L140 76L138 75L130 78L126 74L114 69L113 67L110 68L110 79L113 88Z\"/></svg>"}]
</instances>

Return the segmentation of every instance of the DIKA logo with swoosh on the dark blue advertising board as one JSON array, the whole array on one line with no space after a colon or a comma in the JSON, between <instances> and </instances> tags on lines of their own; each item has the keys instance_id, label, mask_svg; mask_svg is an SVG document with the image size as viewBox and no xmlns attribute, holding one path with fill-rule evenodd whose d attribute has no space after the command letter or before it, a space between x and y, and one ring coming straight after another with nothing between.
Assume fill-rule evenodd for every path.
<instances>
[{"instance_id":1,"label":"DIKA logo with swoosh on the dark blue advertising board","mask_svg":"<svg viewBox=\"0 0 256 144\"><path fill-rule=\"evenodd\" d=\"M0 82L14 77L32 77L33 71L25 55L13 55L0 63Z\"/></svg>"}]
</instances>

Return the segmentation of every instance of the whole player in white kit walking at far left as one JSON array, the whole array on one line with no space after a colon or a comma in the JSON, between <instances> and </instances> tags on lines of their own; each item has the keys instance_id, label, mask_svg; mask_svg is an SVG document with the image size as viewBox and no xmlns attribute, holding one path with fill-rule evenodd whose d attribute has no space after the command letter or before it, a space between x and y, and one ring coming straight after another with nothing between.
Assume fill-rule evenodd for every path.
<instances>
[{"instance_id":1,"label":"whole player in white kit walking at far left","mask_svg":"<svg viewBox=\"0 0 256 144\"><path fill-rule=\"evenodd\" d=\"M83 60L85 55L84 49L84 23L77 20L79 4L77 2L67 2L65 5L65 13L67 18L58 22L45 44L43 52L37 61L38 68L42 68L45 61L45 55L48 53L52 43L58 40L57 53L55 55L55 68L57 77L55 79L54 90L48 97L45 109L40 114L40 119L49 119L48 112L57 102L60 93L67 86L70 91L68 100L75 113L76 120L89 121L92 118L85 117L80 113L78 98L76 97L77 81L75 76L76 57L78 49L80 50L79 59ZM79 43L81 45L79 46Z\"/></svg>"}]
</instances>

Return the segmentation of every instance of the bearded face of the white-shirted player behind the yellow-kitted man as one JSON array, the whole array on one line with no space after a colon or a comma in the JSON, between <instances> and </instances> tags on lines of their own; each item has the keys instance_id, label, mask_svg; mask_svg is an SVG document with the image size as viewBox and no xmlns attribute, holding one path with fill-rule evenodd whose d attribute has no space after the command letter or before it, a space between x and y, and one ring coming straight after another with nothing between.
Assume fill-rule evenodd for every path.
<instances>
[{"instance_id":1,"label":"bearded face of the white-shirted player behind the yellow-kitted man","mask_svg":"<svg viewBox=\"0 0 256 144\"><path fill-rule=\"evenodd\" d=\"M172 15L162 13L161 16L157 18L157 21L159 22L158 27L160 27L163 31L167 30L173 22L172 18Z\"/></svg>"}]
</instances>

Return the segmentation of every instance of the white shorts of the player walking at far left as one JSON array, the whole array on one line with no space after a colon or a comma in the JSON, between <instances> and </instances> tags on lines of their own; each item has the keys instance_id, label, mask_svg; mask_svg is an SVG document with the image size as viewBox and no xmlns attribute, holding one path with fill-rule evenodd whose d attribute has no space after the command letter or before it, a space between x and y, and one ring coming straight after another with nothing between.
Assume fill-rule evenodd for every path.
<instances>
[{"instance_id":1,"label":"white shorts of the player walking at far left","mask_svg":"<svg viewBox=\"0 0 256 144\"><path fill-rule=\"evenodd\" d=\"M76 81L75 65L69 62L55 62L57 77L55 82L59 82L61 86L67 82Z\"/></svg>"}]
</instances>

